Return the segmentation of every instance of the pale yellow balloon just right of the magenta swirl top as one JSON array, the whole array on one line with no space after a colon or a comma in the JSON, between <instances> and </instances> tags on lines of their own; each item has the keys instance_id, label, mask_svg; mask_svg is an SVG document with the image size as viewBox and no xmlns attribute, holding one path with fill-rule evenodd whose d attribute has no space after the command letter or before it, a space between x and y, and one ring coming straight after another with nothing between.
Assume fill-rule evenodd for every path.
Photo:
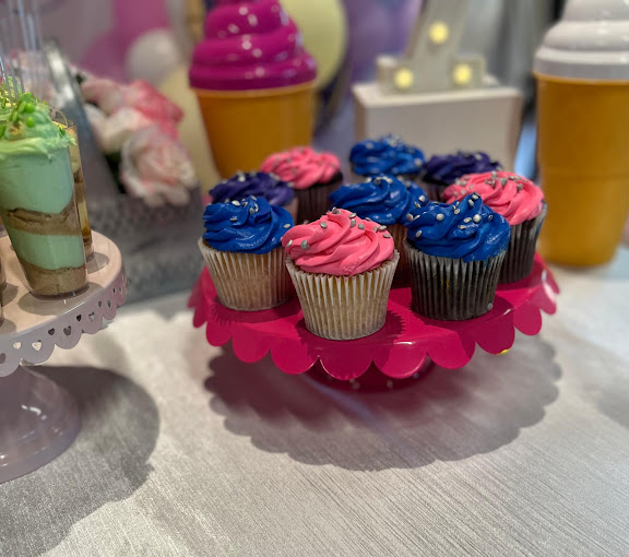
<instances>
[{"instance_id":1,"label":"pale yellow balloon just right of the magenta swirl top","mask_svg":"<svg viewBox=\"0 0 629 557\"><path fill-rule=\"evenodd\" d=\"M282 0L282 5L317 60L317 87L324 87L336 75L347 47L347 20L341 0Z\"/></svg>"}]
</instances>

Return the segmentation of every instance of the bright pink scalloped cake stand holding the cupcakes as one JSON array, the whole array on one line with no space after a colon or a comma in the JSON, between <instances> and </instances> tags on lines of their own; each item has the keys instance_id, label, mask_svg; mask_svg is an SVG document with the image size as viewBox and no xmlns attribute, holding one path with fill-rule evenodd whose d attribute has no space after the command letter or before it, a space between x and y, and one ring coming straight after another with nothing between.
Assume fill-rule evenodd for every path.
<instances>
[{"instance_id":1,"label":"bright pink scalloped cake stand holding the cupcakes","mask_svg":"<svg viewBox=\"0 0 629 557\"><path fill-rule=\"evenodd\" d=\"M533 272L518 283L500 285L491 311L467 321L436 321L411 310L411 288L393 288L384 327L355 341L328 341L306 330L297 298L274 309L256 312L223 307L205 269L192 291L189 307L194 327L205 324L207 342L223 346L232 341L236 356L246 363L269 352L285 374L311 370L339 381L375 384L418 377L427 363L449 369L465 366L476 345L490 354L509 349L515 329L534 335L542 329L542 311L555 313L559 288L539 256ZM365 374L364 377L361 377ZM385 377L383 377L385 376ZM355 388L355 387L354 387Z\"/></svg>"}]
</instances>

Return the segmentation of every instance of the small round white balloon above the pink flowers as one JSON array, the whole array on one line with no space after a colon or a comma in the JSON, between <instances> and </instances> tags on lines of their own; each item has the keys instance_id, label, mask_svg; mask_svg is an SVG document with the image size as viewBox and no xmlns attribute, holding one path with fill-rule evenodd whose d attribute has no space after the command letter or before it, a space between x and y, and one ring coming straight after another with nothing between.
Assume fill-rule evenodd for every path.
<instances>
[{"instance_id":1,"label":"small round white balloon above the pink flowers","mask_svg":"<svg viewBox=\"0 0 629 557\"><path fill-rule=\"evenodd\" d=\"M126 59L131 80L146 80L158 85L181 63L179 45L170 29L154 29L140 35L129 48Z\"/></svg>"}]
</instances>

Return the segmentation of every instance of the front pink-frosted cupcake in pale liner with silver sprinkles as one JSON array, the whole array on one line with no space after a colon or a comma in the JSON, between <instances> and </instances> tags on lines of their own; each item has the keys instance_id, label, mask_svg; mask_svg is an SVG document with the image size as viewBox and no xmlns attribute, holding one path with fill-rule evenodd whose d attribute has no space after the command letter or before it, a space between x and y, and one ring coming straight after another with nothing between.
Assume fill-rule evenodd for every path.
<instances>
[{"instance_id":1,"label":"front pink-frosted cupcake in pale liner with silver sprinkles","mask_svg":"<svg viewBox=\"0 0 629 557\"><path fill-rule=\"evenodd\" d=\"M334 341L379 331L400 254L387 227L334 209L282 239L306 328Z\"/></svg>"}]
</instances>

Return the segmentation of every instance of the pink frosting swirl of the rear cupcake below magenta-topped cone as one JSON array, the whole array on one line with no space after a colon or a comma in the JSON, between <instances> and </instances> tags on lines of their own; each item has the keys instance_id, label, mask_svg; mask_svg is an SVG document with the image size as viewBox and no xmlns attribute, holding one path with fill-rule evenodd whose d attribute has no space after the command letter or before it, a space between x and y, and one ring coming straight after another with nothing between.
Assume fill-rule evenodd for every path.
<instances>
[{"instance_id":1,"label":"pink frosting swirl of the rear cupcake below magenta-topped cone","mask_svg":"<svg viewBox=\"0 0 629 557\"><path fill-rule=\"evenodd\" d=\"M260 169L292 182L296 190L305 190L316 183L331 182L341 171L341 163L332 153L317 153L310 147L294 147L271 155Z\"/></svg>"}]
</instances>

